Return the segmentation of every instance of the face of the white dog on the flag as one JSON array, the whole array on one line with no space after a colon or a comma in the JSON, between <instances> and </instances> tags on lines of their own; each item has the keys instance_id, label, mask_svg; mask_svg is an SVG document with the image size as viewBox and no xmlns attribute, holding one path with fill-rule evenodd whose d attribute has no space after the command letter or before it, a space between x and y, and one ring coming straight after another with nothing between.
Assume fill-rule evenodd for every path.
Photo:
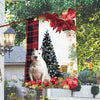
<instances>
[{"instance_id":1,"label":"face of the white dog on the flag","mask_svg":"<svg viewBox=\"0 0 100 100\"><path fill-rule=\"evenodd\" d=\"M33 61L38 61L42 59L42 50L35 50L32 52L31 59Z\"/></svg>"}]
</instances>

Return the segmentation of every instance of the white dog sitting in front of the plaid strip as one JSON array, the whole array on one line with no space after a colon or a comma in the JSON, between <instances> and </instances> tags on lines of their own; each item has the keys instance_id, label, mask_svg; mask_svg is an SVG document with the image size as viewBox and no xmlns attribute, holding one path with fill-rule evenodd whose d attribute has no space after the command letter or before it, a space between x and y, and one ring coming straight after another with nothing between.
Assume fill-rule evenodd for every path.
<instances>
[{"instance_id":1,"label":"white dog sitting in front of the plaid strip","mask_svg":"<svg viewBox=\"0 0 100 100\"><path fill-rule=\"evenodd\" d=\"M48 69L45 61L42 58L42 50L35 50L31 55L32 63L29 67L29 77L31 81L41 79L43 81L50 81Z\"/></svg>"}]
</instances>

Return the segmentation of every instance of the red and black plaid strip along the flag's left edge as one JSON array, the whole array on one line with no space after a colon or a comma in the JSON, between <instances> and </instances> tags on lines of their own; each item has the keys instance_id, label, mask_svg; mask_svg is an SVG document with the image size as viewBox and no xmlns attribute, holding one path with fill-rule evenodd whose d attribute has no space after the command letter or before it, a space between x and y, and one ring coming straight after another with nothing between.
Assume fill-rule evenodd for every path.
<instances>
[{"instance_id":1,"label":"red and black plaid strip along the flag's left edge","mask_svg":"<svg viewBox=\"0 0 100 100\"><path fill-rule=\"evenodd\" d=\"M34 21L34 18L27 19L27 52L26 52L26 64L25 64L25 82L30 81L29 78L29 66L31 64L31 53L34 48L38 49L38 26L39 21Z\"/></svg>"}]
</instances>

